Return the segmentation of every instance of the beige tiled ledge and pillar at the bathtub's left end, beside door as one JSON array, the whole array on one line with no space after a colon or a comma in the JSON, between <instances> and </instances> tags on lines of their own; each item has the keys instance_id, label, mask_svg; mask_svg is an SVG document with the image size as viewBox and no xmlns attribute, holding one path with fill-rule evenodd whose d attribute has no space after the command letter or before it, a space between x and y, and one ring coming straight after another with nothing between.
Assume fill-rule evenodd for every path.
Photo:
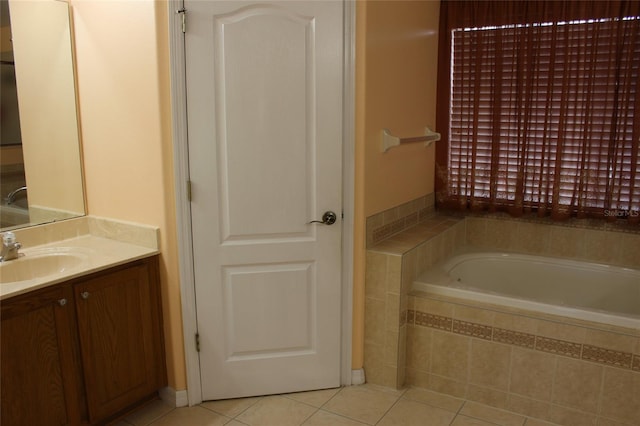
<instances>
[{"instance_id":1,"label":"beige tiled ledge and pillar at the bathtub's left end, beside door","mask_svg":"<svg viewBox=\"0 0 640 426\"><path fill-rule=\"evenodd\" d=\"M464 244L464 229L461 218L432 215L367 251L364 368L369 383L404 385L411 285Z\"/></svg>"}]
</instances>

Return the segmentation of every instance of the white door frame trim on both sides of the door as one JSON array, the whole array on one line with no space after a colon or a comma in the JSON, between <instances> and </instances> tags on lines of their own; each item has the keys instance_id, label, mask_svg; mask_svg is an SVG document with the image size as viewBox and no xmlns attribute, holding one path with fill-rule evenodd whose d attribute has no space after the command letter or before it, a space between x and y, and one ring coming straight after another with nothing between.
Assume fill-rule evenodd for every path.
<instances>
[{"instance_id":1,"label":"white door frame trim on both sides of the door","mask_svg":"<svg viewBox=\"0 0 640 426\"><path fill-rule=\"evenodd\" d=\"M189 147L187 138L187 92L185 84L185 45L183 16L188 25L189 11L179 13L183 0L169 0L169 43L171 57L171 106L173 123L173 167L176 196L176 225L180 265L180 294L187 371L189 405L202 402L200 360L196 351L196 295L191 238ZM342 318L340 376L342 385L351 384L351 337L353 312L353 206L355 176L355 0L344 0L344 92L343 92L343 181L342 198Z\"/></svg>"}]
</instances>

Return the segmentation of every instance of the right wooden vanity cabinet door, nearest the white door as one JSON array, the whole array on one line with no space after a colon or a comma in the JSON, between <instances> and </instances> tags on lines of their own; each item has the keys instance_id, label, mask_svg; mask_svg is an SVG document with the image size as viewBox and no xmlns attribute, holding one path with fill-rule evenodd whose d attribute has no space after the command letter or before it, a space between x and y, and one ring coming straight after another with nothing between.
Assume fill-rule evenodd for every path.
<instances>
[{"instance_id":1,"label":"right wooden vanity cabinet door, nearest the white door","mask_svg":"<svg viewBox=\"0 0 640 426\"><path fill-rule=\"evenodd\" d=\"M152 263L153 264L153 263ZM163 385L156 269L139 262L74 285L90 421ZM162 364L162 365L161 365Z\"/></svg>"}]
</instances>

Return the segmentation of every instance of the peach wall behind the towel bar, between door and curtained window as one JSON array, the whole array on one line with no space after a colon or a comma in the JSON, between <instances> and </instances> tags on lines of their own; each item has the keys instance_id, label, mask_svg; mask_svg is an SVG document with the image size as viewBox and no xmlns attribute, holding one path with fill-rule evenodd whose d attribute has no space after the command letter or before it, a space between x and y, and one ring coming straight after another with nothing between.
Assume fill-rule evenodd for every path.
<instances>
[{"instance_id":1,"label":"peach wall behind the towel bar, between door and curtained window","mask_svg":"<svg viewBox=\"0 0 640 426\"><path fill-rule=\"evenodd\" d=\"M438 0L361 0L356 9L356 206L352 368L364 345L365 223L433 192L435 147L381 152L382 129L400 137L435 129Z\"/></svg>"}]
</instances>

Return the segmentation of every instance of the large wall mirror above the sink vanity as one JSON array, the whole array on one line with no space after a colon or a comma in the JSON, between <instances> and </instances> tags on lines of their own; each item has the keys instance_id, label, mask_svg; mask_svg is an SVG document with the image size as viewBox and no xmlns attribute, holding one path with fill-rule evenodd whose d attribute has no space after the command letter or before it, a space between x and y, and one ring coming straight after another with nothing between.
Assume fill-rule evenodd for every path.
<instances>
[{"instance_id":1,"label":"large wall mirror above the sink vanity","mask_svg":"<svg viewBox=\"0 0 640 426\"><path fill-rule=\"evenodd\" d=\"M0 0L0 7L0 230L82 216L69 4Z\"/></svg>"}]
</instances>

